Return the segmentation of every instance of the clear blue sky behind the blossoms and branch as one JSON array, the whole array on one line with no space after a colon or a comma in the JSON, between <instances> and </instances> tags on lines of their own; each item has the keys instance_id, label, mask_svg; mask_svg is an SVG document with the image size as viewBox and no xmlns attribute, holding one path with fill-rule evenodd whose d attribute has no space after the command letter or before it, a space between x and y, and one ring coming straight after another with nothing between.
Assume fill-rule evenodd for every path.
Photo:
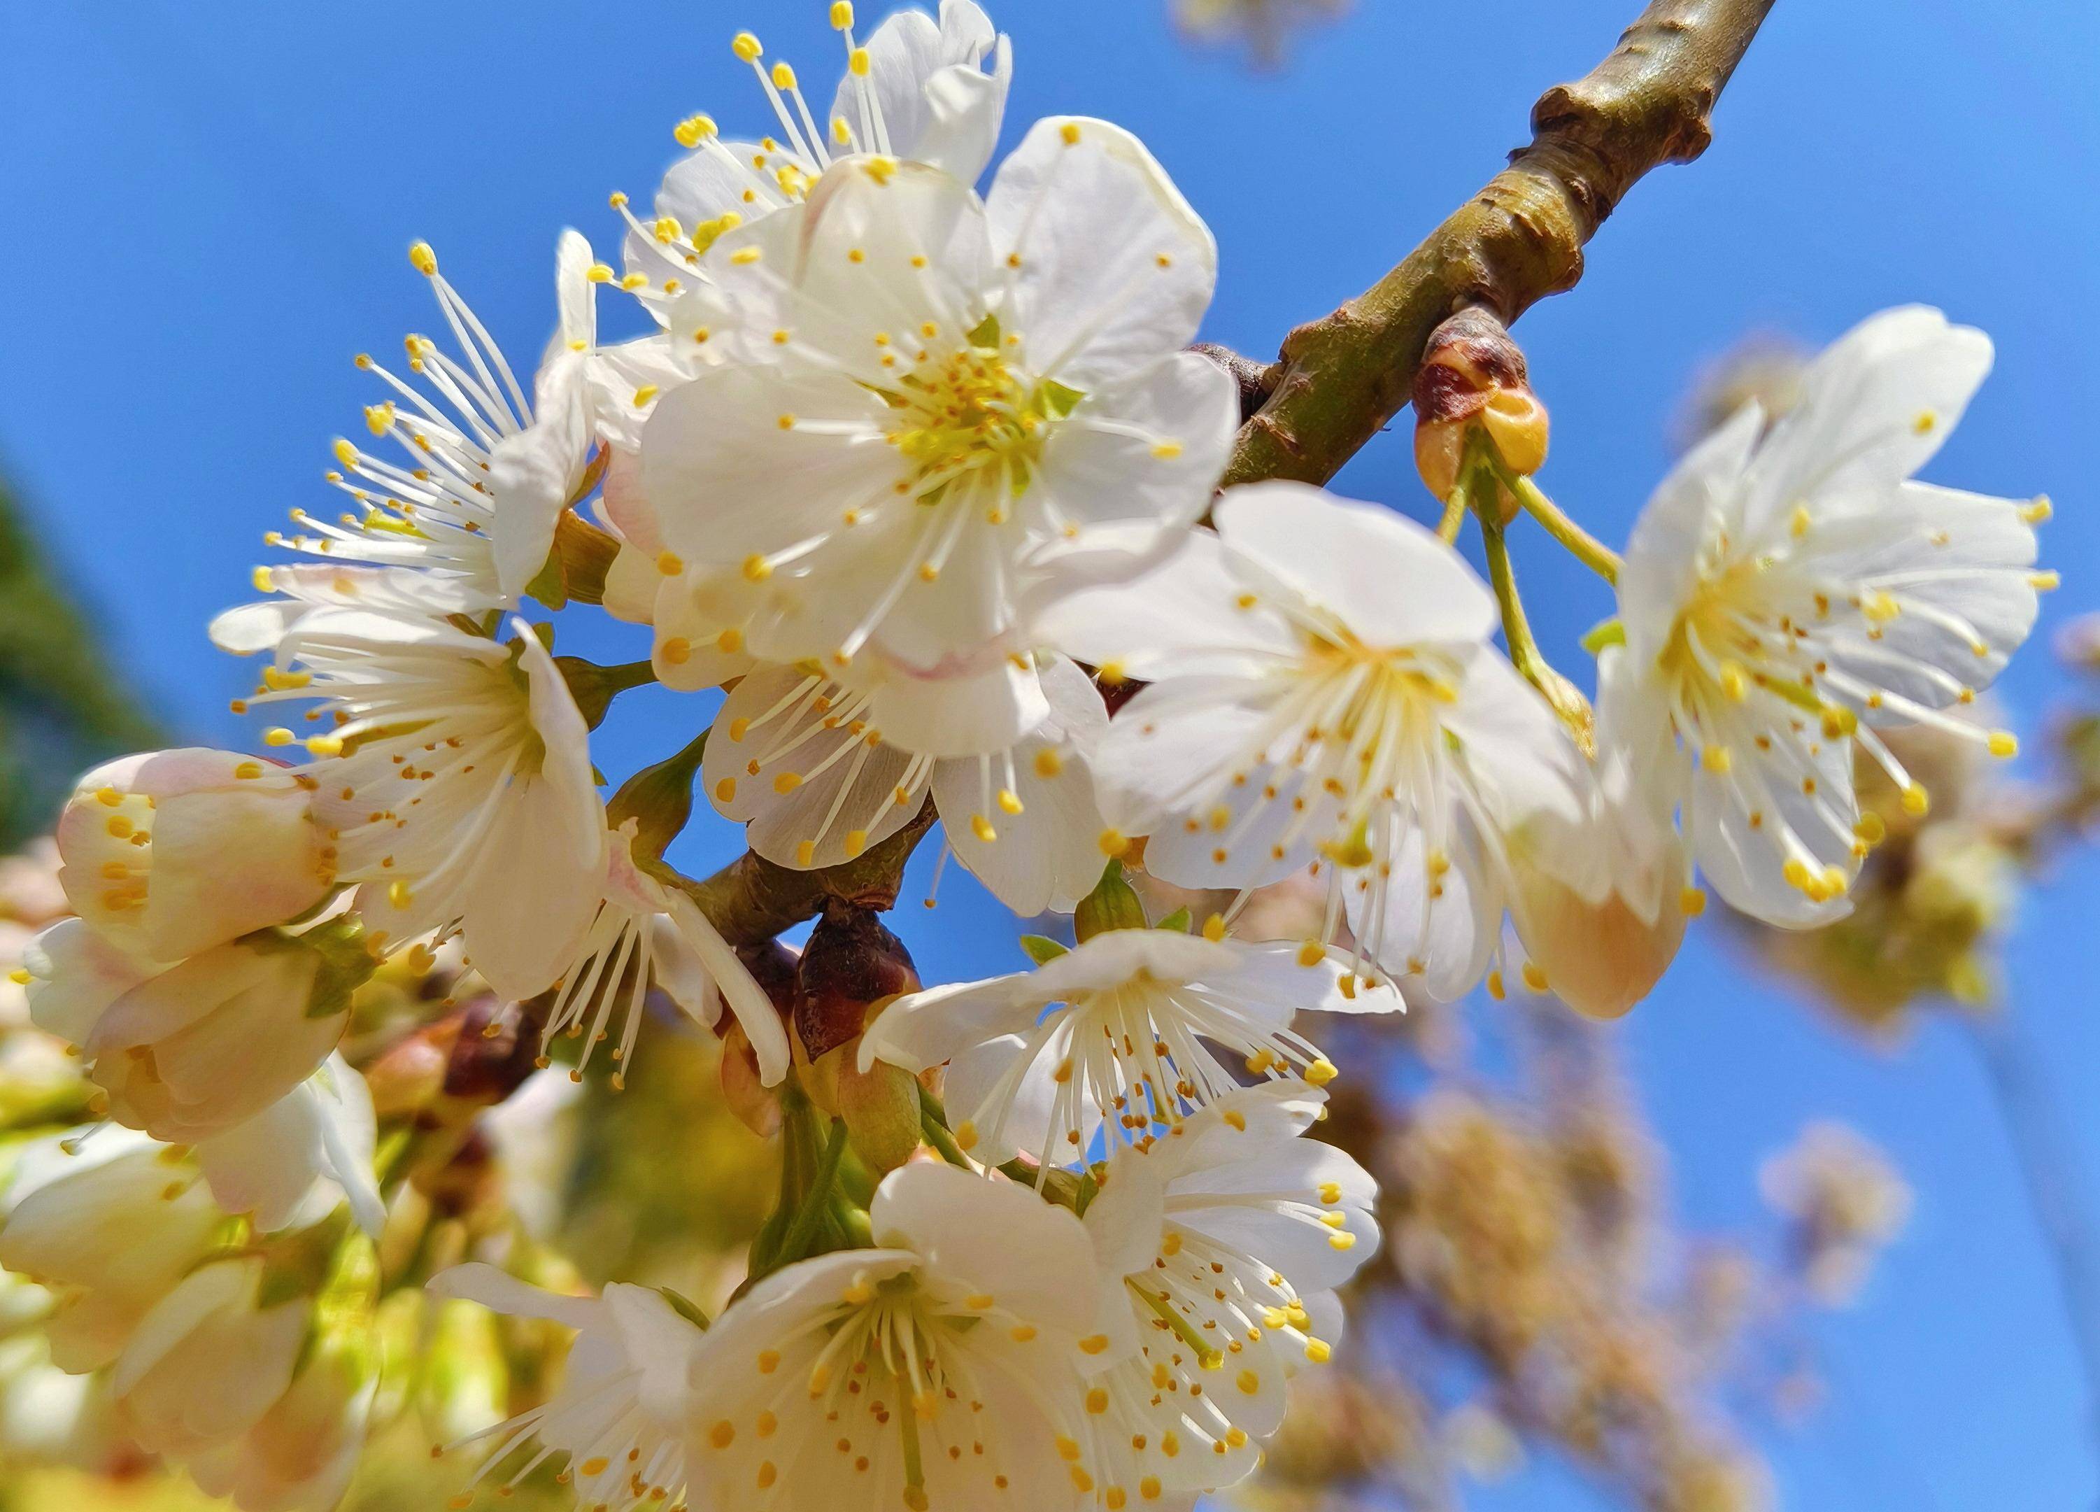
<instances>
[{"instance_id":1,"label":"clear blue sky behind the blossoms and branch","mask_svg":"<svg viewBox=\"0 0 2100 1512\"><path fill-rule=\"evenodd\" d=\"M865 4L863 10L878 10ZM1634 0L1359 0L1287 71L1186 52L1163 0L1004 0L1010 134L1050 111L1115 118L1168 164L1222 244L1210 336L1273 353L1373 279L1525 139L1531 99L1594 63ZM563 225L615 242L609 189L645 195L693 109L758 124L729 57L764 32L827 78L819 0L132 0L0 15L0 462L126 668L191 737L239 743L244 672L204 622L248 590L262 529L319 508L326 441L370 397L355 351L433 326L403 250L428 237L506 346L550 330ZM1653 176L1604 227L1581 288L1525 319L1554 410L1546 483L1621 540L1667 464L1701 361L1747 328L1825 340L1930 300L1997 338L1997 376L1934 477L2050 491L2064 588L2043 634L2100 603L2087 573L2100 405L2100 147L2090 0L1783 0L1693 168ZM1405 433L1344 485L1422 512ZM1602 594L1535 546L1535 620L1571 640ZM571 645L611 645L578 636ZM2006 682L2039 733L2045 655ZM685 739L693 706L643 697L607 729L624 773ZM2031 748L2039 741L2029 741ZM735 840L710 827L695 869ZM2022 1012L2077 1142L2100 1149L2092 968L2100 869L2071 865L2014 949ZM899 916L928 976L1008 968L1010 930L951 878ZM979 926L979 928L972 928ZM1772 1430L1785 1504L1814 1512L2092 1508L2079 1378L2016 1168L1964 1040L1894 1056L1819 1027L1699 934L1623 1029L1676 1153L1686 1220L1756 1222L1754 1168L1806 1117L1867 1130L1919 1186L1907 1239L1823 1329L1835 1401ZM2083 1180L2083 1178L2081 1178ZM2094 1197L2090 1184L2085 1197ZM1552 1472L1483 1508L1586 1508Z\"/></svg>"}]
</instances>

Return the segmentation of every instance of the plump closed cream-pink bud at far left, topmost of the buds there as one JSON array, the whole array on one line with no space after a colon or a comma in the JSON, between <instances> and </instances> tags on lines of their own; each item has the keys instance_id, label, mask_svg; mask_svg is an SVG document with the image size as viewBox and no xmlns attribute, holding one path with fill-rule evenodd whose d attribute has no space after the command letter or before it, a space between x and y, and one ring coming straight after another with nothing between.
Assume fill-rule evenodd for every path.
<instances>
[{"instance_id":1,"label":"plump closed cream-pink bud at far left, topmost of the buds there","mask_svg":"<svg viewBox=\"0 0 2100 1512\"><path fill-rule=\"evenodd\" d=\"M80 918L153 960L284 924L334 884L313 779L216 750L97 766L59 815L59 882Z\"/></svg>"}]
</instances>

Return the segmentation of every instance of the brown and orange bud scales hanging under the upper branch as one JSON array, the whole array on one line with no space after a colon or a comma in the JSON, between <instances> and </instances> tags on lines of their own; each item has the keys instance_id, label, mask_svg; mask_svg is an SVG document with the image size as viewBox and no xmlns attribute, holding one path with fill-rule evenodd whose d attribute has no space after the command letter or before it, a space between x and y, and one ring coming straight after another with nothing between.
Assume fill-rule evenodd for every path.
<instances>
[{"instance_id":1,"label":"brown and orange bud scales hanging under the upper branch","mask_svg":"<svg viewBox=\"0 0 2100 1512\"><path fill-rule=\"evenodd\" d=\"M1474 304L1430 334L1415 370L1415 468L1430 494L1451 498L1474 435L1510 472L1531 477L1546 466L1548 428L1525 353L1499 319ZM1508 521L1516 500L1499 494Z\"/></svg>"}]
</instances>

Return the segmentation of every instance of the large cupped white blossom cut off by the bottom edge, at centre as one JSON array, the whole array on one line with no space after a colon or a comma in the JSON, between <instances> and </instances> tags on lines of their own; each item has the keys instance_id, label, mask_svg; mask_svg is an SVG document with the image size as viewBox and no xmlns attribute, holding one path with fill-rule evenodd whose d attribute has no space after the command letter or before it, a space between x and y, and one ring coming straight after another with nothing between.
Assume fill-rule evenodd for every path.
<instances>
[{"instance_id":1,"label":"large cupped white blossom cut off by the bottom edge, at centre","mask_svg":"<svg viewBox=\"0 0 2100 1512\"><path fill-rule=\"evenodd\" d=\"M1079 1220L914 1163L884 1178L869 1224L874 1250L764 1277L701 1338L695 1506L1088 1506L1105 1447L1082 1369L1111 1340L1092 1331Z\"/></svg>"}]
</instances>

